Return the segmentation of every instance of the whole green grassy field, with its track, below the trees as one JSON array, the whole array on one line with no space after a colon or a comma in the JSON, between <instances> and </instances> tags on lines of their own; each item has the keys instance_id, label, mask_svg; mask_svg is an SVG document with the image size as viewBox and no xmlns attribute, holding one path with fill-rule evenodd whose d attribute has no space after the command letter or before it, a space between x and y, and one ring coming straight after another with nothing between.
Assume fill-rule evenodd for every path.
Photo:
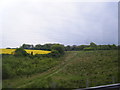
<instances>
[{"instance_id":1,"label":"whole green grassy field, with its track, below the trees","mask_svg":"<svg viewBox=\"0 0 120 90\"><path fill-rule=\"evenodd\" d=\"M119 82L117 50L67 51L60 58L3 56L4 67L11 76L3 80L3 88L85 88Z\"/></svg>"}]
</instances>

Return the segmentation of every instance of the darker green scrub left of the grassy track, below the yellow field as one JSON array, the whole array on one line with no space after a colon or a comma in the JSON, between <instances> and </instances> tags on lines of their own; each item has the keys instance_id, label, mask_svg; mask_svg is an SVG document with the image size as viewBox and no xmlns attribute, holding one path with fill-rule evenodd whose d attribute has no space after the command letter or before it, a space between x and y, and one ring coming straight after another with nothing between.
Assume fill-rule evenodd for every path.
<instances>
[{"instance_id":1,"label":"darker green scrub left of the grassy track, below the yellow field","mask_svg":"<svg viewBox=\"0 0 120 90\"><path fill-rule=\"evenodd\" d=\"M55 66L59 61L50 57L16 57L3 55L3 79L26 76L30 77L36 73L42 73Z\"/></svg>"}]
</instances>

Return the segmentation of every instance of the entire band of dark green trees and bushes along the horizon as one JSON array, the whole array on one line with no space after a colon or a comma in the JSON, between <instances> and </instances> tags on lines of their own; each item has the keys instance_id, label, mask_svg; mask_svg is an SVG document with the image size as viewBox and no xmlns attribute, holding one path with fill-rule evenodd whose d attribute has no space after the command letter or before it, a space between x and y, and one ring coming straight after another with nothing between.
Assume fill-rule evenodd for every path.
<instances>
[{"instance_id":1,"label":"entire band of dark green trees and bushes along the horizon","mask_svg":"<svg viewBox=\"0 0 120 90\"><path fill-rule=\"evenodd\" d=\"M90 51L90 50L115 50L118 46L115 44L113 45L97 45L94 42L91 42L89 45L67 45L64 46L62 44L37 44L37 45L30 45L30 44L23 44L20 46L20 48L17 48L14 55L15 56L37 56L37 57L60 57L64 55L64 51ZM51 51L49 54L36 54L33 55L33 52L31 54L28 54L24 49L32 49L32 50L48 50Z\"/></svg>"}]
</instances>

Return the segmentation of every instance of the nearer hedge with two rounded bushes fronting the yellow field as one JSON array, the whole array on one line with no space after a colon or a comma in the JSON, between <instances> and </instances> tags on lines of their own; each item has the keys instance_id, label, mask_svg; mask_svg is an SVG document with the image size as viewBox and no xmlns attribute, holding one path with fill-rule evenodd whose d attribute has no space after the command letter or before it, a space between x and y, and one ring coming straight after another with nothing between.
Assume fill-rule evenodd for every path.
<instances>
[{"instance_id":1,"label":"nearer hedge with two rounded bushes fronting the yellow field","mask_svg":"<svg viewBox=\"0 0 120 90\"><path fill-rule=\"evenodd\" d=\"M29 56L29 57L60 57L64 55L64 46L61 44L54 44L50 47L51 53L48 54L35 54L33 55L33 52L30 54L25 51L25 49L33 49L33 48L24 48L20 47L17 48L14 52L14 56L21 57L21 56Z\"/></svg>"}]
</instances>

